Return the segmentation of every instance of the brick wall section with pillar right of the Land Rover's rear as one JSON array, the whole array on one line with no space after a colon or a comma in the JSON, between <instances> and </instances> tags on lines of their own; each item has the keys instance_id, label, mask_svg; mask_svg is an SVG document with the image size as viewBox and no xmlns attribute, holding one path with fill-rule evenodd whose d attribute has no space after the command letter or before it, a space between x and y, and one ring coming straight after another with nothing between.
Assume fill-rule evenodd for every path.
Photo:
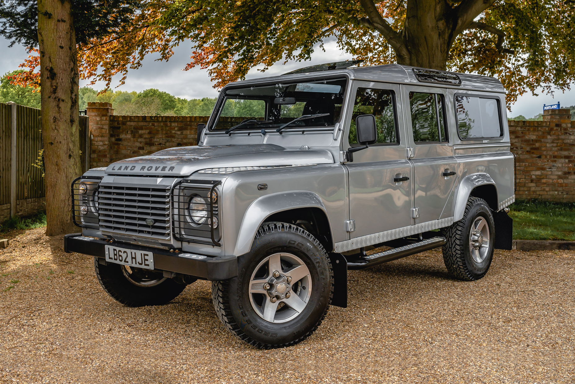
<instances>
[{"instance_id":1,"label":"brick wall section with pillar right of the Land Rover's rear","mask_svg":"<svg viewBox=\"0 0 575 384\"><path fill-rule=\"evenodd\" d=\"M575 121L549 109L543 121L508 121L516 154L516 199L575 201Z\"/></svg>"}]
</instances>

